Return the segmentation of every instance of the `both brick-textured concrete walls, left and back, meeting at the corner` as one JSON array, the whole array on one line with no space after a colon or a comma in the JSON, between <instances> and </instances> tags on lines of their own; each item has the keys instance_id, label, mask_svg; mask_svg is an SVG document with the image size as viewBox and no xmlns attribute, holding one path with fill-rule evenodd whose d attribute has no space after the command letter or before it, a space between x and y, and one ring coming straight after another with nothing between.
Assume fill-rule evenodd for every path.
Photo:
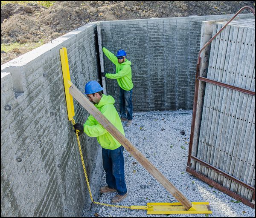
<instances>
[{"instance_id":1,"label":"both brick-textured concrete walls, left and back, meeting at the corner","mask_svg":"<svg viewBox=\"0 0 256 218\"><path fill-rule=\"evenodd\" d=\"M231 16L102 22L103 45L113 52L125 49L133 64L135 111L192 107L199 26L202 20L223 17ZM117 40L123 35L125 40ZM62 47L67 47L71 81L83 92L85 83L97 80L100 72L96 23L1 66L1 216L75 217L84 206L90 207L67 118ZM105 71L111 69L105 59ZM117 83L107 82L108 94L118 106ZM76 100L74 105L76 122L84 123L88 113ZM95 199L100 147L96 138L80 138Z\"/></svg>"}]
</instances>

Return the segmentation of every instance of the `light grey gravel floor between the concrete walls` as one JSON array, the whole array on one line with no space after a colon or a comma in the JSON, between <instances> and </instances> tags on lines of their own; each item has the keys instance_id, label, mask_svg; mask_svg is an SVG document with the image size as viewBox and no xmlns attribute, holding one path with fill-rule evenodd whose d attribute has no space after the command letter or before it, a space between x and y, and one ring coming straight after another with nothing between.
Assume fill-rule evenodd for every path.
<instances>
[{"instance_id":1,"label":"light grey gravel floor between the concrete walls","mask_svg":"<svg viewBox=\"0 0 256 218\"><path fill-rule=\"evenodd\" d=\"M124 126L126 138L151 161L189 201L209 202L212 215L147 215L146 210L92 207L99 217L255 217L255 209L247 207L186 172L192 111L135 113L133 124ZM123 123L125 124L125 123ZM185 135L180 131L184 130ZM117 205L146 206L148 202L177 202L138 161L124 150L125 180L128 196ZM101 186L106 185L103 170ZM98 201L111 204L116 193L100 194Z\"/></svg>"}]
</instances>

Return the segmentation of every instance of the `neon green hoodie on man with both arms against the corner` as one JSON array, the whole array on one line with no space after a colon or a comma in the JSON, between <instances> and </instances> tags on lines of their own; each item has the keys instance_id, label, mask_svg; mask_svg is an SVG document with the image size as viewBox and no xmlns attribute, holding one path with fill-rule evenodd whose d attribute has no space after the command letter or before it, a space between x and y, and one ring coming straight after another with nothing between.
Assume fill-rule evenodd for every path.
<instances>
[{"instance_id":1,"label":"neon green hoodie on man with both arms against the corner","mask_svg":"<svg viewBox=\"0 0 256 218\"><path fill-rule=\"evenodd\" d=\"M133 88L131 80L131 61L125 59L124 63L118 63L117 57L108 51L105 47L102 48L104 54L111 62L116 65L116 74L106 73L106 77L109 79L116 79L118 85L125 91L130 91Z\"/></svg>"}]
</instances>

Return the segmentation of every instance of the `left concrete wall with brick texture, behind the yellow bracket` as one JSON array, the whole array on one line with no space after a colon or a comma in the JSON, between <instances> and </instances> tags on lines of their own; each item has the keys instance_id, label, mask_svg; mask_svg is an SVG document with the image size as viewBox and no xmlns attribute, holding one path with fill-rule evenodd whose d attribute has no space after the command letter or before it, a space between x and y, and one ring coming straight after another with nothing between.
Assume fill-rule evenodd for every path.
<instances>
[{"instance_id":1,"label":"left concrete wall with brick texture, behind the yellow bracket","mask_svg":"<svg viewBox=\"0 0 256 218\"><path fill-rule=\"evenodd\" d=\"M1 216L79 217L90 203L59 49L67 48L71 81L84 92L97 79L97 43L90 23L1 66ZM84 123L88 113L74 106ZM85 134L80 140L90 178L98 143Z\"/></svg>"}]
</instances>

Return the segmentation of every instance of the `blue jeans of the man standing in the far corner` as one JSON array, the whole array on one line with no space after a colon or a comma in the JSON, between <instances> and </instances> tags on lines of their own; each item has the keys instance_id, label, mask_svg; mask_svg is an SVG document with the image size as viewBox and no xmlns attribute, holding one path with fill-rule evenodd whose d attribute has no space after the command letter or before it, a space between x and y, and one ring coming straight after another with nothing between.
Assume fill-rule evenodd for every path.
<instances>
[{"instance_id":1,"label":"blue jeans of the man standing in the far corner","mask_svg":"<svg viewBox=\"0 0 256 218\"><path fill-rule=\"evenodd\" d=\"M126 118L125 108L127 110L127 119L132 120L132 89L130 91L125 91L120 87L119 92L119 107L121 118Z\"/></svg>"}]
</instances>

